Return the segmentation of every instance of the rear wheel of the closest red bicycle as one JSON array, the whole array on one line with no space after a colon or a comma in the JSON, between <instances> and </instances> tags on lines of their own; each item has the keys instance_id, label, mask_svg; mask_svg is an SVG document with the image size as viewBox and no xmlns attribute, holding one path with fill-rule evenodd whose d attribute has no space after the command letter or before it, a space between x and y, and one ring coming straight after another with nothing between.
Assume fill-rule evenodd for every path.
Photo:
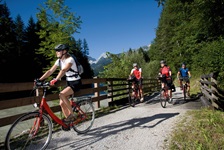
<instances>
[{"instance_id":1,"label":"rear wheel of the closest red bicycle","mask_svg":"<svg viewBox=\"0 0 224 150\"><path fill-rule=\"evenodd\" d=\"M73 129L77 133L86 133L90 130L95 119L95 110L90 100L83 100L77 103L77 107L73 107L73 112L77 116L73 124Z\"/></svg>"}]
</instances>

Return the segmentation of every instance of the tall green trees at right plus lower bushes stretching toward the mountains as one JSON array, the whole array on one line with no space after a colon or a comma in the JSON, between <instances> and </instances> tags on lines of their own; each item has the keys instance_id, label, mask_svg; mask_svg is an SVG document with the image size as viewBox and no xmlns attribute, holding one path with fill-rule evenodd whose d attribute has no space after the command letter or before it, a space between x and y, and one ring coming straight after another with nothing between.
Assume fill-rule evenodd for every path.
<instances>
[{"instance_id":1,"label":"tall green trees at right plus lower bushes stretching toward the mountains","mask_svg":"<svg viewBox=\"0 0 224 150\"><path fill-rule=\"evenodd\" d=\"M165 60L171 67L173 78L184 62L194 78L211 72L219 73L219 82L223 86L224 1L157 2L163 9L156 38L149 50L129 50L128 53L120 55L121 59L111 54L113 63L106 66L101 75L127 77L132 63L137 62L143 68L143 77L156 77L160 60Z\"/></svg>"}]
</instances>

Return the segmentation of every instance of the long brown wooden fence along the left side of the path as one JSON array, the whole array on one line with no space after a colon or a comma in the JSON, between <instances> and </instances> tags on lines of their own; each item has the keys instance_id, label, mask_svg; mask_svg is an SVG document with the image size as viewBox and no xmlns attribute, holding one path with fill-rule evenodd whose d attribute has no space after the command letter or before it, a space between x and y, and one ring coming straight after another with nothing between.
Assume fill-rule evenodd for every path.
<instances>
[{"instance_id":1,"label":"long brown wooden fence along the left side of the path","mask_svg":"<svg viewBox=\"0 0 224 150\"><path fill-rule=\"evenodd\" d=\"M130 83L124 78L94 78L94 79L82 79L82 84L90 85L87 88L81 89L79 92L75 93L75 96L83 95L93 95L92 101L97 103L97 107L100 107L100 101L105 99L110 99L114 101L119 98L128 97L128 91L130 88ZM59 86L65 85L65 81L59 83ZM92 86L92 87L91 87ZM159 84L157 79L144 79L143 82L144 94L157 91L159 89ZM23 96L24 91L31 91L33 88L33 82L29 83L0 83L0 111L6 111L13 108L22 107L27 105L32 105L35 100L40 101L41 95L39 97L34 96ZM20 94L23 93L23 94ZM103 93L103 94L102 94ZM29 96L29 97L27 97ZM3 98L4 97L4 98ZM7 98L9 97L9 98ZM47 101L53 101L58 99L58 93L48 94L46 96ZM53 112L61 111L59 105L51 107ZM0 127L12 124L15 119L24 113L3 116L0 118Z\"/></svg>"}]
</instances>

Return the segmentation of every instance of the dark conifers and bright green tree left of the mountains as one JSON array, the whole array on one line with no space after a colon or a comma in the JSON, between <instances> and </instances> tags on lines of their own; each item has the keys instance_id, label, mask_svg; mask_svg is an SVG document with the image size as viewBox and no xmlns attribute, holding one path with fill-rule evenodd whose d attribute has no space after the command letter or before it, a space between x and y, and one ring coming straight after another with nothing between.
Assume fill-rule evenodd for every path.
<instances>
[{"instance_id":1,"label":"dark conifers and bright green tree left of the mountains","mask_svg":"<svg viewBox=\"0 0 224 150\"><path fill-rule=\"evenodd\" d=\"M86 39L76 40L72 36L82 21L69 12L63 1L46 1L39 8L38 21L34 22L30 17L28 25L24 24L19 14L13 20L2 0L0 10L1 83L32 82L39 78L56 61L54 47L60 43L68 44L69 53L75 54L85 68L82 78L93 77Z\"/></svg>"}]
</instances>

